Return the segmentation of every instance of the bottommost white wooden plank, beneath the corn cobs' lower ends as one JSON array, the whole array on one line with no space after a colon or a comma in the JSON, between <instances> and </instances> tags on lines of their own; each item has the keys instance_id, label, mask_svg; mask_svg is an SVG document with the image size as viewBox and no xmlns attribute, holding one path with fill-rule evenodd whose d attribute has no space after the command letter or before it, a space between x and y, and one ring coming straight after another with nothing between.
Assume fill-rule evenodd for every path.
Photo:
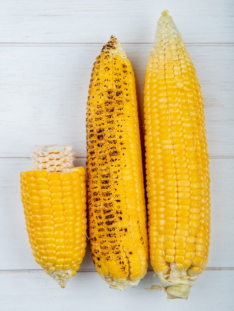
<instances>
[{"instance_id":1,"label":"bottommost white wooden plank, beneath the corn cobs' lower ends","mask_svg":"<svg viewBox=\"0 0 234 311\"><path fill-rule=\"evenodd\" d=\"M0 274L1 308L7 311L119 311L166 310L207 311L233 310L234 270L204 271L188 300L167 301L164 291L147 292L145 288L159 285L153 272L135 288L126 291L109 289L95 273L78 273L61 289L43 273Z\"/></svg>"}]
</instances>

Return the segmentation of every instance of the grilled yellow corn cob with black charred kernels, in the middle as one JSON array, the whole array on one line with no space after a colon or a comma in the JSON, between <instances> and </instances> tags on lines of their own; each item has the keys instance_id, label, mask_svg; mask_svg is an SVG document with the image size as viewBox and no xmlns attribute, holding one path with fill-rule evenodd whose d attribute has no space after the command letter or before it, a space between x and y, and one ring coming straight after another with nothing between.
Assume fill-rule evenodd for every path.
<instances>
[{"instance_id":1,"label":"grilled yellow corn cob with black charred kernels, in the middle","mask_svg":"<svg viewBox=\"0 0 234 311\"><path fill-rule=\"evenodd\" d=\"M147 272L148 238L135 77L114 36L93 66L86 129L92 259L123 290Z\"/></svg>"}]
</instances>

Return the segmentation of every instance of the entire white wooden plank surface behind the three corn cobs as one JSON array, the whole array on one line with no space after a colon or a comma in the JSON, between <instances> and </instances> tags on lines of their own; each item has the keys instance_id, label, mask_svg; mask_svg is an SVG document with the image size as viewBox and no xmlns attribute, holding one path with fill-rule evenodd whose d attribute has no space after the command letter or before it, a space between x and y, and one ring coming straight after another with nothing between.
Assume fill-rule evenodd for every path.
<instances>
[{"instance_id":1,"label":"entire white wooden plank surface behind the three corn cobs","mask_svg":"<svg viewBox=\"0 0 234 311\"><path fill-rule=\"evenodd\" d=\"M65 289L35 263L19 172L34 145L71 144L85 164L91 69L114 34L135 71L140 121L146 64L162 10L180 30L202 86L211 166L212 234L206 271L187 301L166 300L149 266L125 292L111 290L87 252ZM234 1L0 0L0 310L234 310Z\"/></svg>"}]
</instances>

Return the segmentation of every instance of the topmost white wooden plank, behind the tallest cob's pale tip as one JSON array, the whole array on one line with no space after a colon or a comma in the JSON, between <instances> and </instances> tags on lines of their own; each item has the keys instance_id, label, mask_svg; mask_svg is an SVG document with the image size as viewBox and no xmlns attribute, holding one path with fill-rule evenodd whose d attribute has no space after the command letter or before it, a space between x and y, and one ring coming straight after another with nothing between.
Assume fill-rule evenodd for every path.
<instances>
[{"instance_id":1,"label":"topmost white wooden plank, behind the tallest cob's pale tip","mask_svg":"<svg viewBox=\"0 0 234 311\"><path fill-rule=\"evenodd\" d=\"M169 9L185 42L233 42L232 0L7 0L0 4L0 42L153 42Z\"/></svg>"}]
</instances>

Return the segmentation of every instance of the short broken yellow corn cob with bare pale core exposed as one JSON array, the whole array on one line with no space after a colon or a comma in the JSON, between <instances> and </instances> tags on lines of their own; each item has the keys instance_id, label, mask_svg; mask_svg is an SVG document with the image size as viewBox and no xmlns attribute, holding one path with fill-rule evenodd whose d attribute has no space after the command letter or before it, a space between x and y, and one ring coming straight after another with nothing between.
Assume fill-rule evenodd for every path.
<instances>
[{"instance_id":1,"label":"short broken yellow corn cob with bare pale core exposed","mask_svg":"<svg viewBox=\"0 0 234 311\"><path fill-rule=\"evenodd\" d=\"M36 262L64 288L86 247L86 171L71 147L38 146L33 169L20 173L21 199Z\"/></svg>"}]
</instances>

